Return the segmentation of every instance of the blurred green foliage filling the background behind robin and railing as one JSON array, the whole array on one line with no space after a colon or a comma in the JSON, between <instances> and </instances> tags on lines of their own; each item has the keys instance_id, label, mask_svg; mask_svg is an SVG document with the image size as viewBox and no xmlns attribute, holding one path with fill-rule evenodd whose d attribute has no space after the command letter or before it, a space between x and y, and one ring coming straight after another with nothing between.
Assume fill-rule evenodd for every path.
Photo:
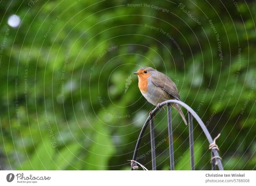
<instances>
[{"instance_id":1,"label":"blurred green foliage filling the background behind robin and railing","mask_svg":"<svg viewBox=\"0 0 256 186\"><path fill-rule=\"evenodd\" d=\"M255 2L237 3L239 11L232 1L184 1L184 9L164 0L39 0L31 7L28 2L0 4L0 42L9 28L0 66L1 169L129 170L127 160L154 108L132 75L141 66L167 74L181 99L208 121L212 137L221 133L217 144L224 169L256 169ZM142 6L128 5L138 3ZM8 26L12 14L22 20L19 28ZM182 157L175 167L188 170L188 127L176 111L172 117L174 159ZM166 139L156 149L157 169L166 169L166 112L156 115L155 125L156 143ZM196 122L194 129L196 169L208 170L209 144ZM148 132L138 156L146 155L138 161L150 169Z\"/></svg>"}]
</instances>

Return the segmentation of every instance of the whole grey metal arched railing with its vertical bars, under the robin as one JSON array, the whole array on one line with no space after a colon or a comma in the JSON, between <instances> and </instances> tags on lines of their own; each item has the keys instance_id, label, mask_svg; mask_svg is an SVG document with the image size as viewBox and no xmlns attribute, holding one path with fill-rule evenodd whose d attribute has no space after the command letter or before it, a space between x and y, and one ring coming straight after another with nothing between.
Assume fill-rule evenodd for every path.
<instances>
[{"instance_id":1,"label":"whole grey metal arched railing with its vertical bars, under the robin","mask_svg":"<svg viewBox=\"0 0 256 186\"><path fill-rule=\"evenodd\" d=\"M223 170L223 166L221 163L221 158L218 153L218 146L215 144L215 140L212 140L212 137L209 133L209 131L206 129L203 121L200 119L200 117L196 114L196 112L190 108L187 104L183 103L179 100L166 100L159 104L159 107L156 107L151 115L155 115L156 112L159 110L159 108L162 108L164 105L167 105L167 116L168 116L168 132L169 132L169 150L170 150L170 164L171 164L171 170L174 170L174 155L173 155L173 140L172 140L172 115L171 115L171 104L176 103L188 110L188 128L189 128L189 146L190 146L190 164L191 164L191 170L195 170L195 158L194 158L194 138L193 138L193 117L196 119L196 121L201 126L202 130L204 131L204 134L206 138L209 141L209 147L211 149L211 164L212 164L212 170L216 170L216 166L218 165L219 170ZM137 164L134 160L136 160L136 157L138 155L140 142L143 137L143 134L148 126L148 123L150 125L150 138L151 138L151 155L152 155L152 170L156 170L156 153L155 153L155 134L154 134L154 122L153 119L150 119L148 116L148 119L144 123L139 138L137 140L137 144L135 146L135 150L133 153L133 158L131 162L131 170L135 170L134 167L137 168ZM219 135L218 135L219 137Z\"/></svg>"}]
</instances>

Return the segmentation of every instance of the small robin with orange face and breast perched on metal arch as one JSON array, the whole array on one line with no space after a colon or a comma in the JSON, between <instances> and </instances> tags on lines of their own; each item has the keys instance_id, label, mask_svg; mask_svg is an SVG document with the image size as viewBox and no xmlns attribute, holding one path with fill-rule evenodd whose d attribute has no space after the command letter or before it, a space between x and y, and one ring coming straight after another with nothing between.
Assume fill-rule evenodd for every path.
<instances>
[{"instance_id":1,"label":"small robin with orange face and breast perched on metal arch","mask_svg":"<svg viewBox=\"0 0 256 186\"><path fill-rule=\"evenodd\" d=\"M139 89L142 95L148 100L149 103L156 105L166 100L180 100L175 83L162 72L157 71L151 67L142 67L133 74L138 75ZM178 104L172 104L178 110L183 121L187 125L186 118ZM151 117L151 112L150 112Z\"/></svg>"}]
</instances>

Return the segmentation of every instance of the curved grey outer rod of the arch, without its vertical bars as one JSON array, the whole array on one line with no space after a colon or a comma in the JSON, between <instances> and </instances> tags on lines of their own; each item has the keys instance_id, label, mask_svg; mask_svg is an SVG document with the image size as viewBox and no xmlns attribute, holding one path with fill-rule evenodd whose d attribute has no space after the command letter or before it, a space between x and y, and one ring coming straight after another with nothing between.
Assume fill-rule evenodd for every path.
<instances>
[{"instance_id":1,"label":"curved grey outer rod of the arch, without its vertical bars","mask_svg":"<svg viewBox=\"0 0 256 186\"><path fill-rule=\"evenodd\" d=\"M205 127L203 121L201 120L201 118L196 114L196 112L190 108L186 103L183 103L182 101L179 101L179 100L166 100L166 101L163 101L162 103L159 104L159 108L162 108L164 105L167 105L167 103L176 103L184 108L186 108L188 110L188 112L190 112L194 118L196 119L196 121L198 122L198 124L200 125L200 127L202 128L202 130L204 131L204 134L209 142L209 144L212 144L213 143L213 140L212 140L212 137L209 133L209 131L207 130L207 128ZM158 107L156 107L152 112L151 112L151 115L155 115L156 112L159 110ZM138 151L139 151L139 147L140 147L140 142L141 142L141 138L143 137L143 134L148 126L148 123L149 123L149 116L146 120L146 122L144 123L141 131L140 131L140 135L139 135L139 138L137 140L137 143L136 143L136 146L135 146L135 149L134 149L134 153L133 153L133 157L132 157L132 160L135 160L136 157L137 157L137 154L138 154ZM219 153L216 149L213 149L212 150L213 153L216 155L216 156L219 156ZM221 160L218 158L217 160L217 163L218 163L218 167L219 167L219 170L223 170L223 166L222 166L222 163L221 163ZM133 170L131 168L131 170Z\"/></svg>"}]
</instances>

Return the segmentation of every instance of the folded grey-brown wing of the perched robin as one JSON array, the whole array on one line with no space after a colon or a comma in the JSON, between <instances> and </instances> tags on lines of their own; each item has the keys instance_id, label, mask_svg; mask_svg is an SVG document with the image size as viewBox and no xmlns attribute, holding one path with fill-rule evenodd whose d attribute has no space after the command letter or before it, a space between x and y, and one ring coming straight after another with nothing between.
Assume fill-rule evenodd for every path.
<instances>
[{"instance_id":1,"label":"folded grey-brown wing of the perched robin","mask_svg":"<svg viewBox=\"0 0 256 186\"><path fill-rule=\"evenodd\" d=\"M175 83L168 76L159 72L157 73L157 75L151 76L151 81L155 86L160 87L161 89L169 93L172 97L181 101L180 95L178 93Z\"/></svg>"}]
</instances>

